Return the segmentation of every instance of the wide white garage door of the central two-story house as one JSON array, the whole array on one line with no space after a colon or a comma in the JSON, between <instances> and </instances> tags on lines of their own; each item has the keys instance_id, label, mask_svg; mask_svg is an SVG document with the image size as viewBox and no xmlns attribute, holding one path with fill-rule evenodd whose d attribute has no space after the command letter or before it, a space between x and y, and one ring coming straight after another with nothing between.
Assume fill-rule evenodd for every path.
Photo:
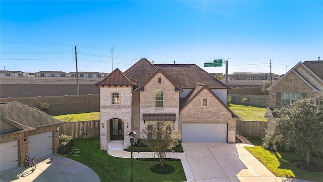
<instances>
[{"instance_id":1,"label":"wide white garage door of the central two-story house","mask_svg":"<svg viewBox=\"0 0 323 182\"><path fill-rule=\"evenodd\" d=\"M227 143L227 123L182 123L183 143Z\"/></svg>"}]
</instances>

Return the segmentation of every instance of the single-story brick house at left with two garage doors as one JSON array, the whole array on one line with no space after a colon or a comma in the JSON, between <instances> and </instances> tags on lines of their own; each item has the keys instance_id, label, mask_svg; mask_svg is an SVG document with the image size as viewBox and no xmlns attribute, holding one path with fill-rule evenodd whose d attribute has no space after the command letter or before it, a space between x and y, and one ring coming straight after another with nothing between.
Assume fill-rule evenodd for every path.
<instances>
[{"instance_id":1,"label":"single-story brick house at left with two garage doors","mask_svg":"<svg viewBox=\"0 0 323 182\"><path fill-rule=\"evenodd\" d=\"M17 101L0 104L0 170L23 165L30 157L57 153L59 125L64 123Z\"/></svg>"}]
</instances>

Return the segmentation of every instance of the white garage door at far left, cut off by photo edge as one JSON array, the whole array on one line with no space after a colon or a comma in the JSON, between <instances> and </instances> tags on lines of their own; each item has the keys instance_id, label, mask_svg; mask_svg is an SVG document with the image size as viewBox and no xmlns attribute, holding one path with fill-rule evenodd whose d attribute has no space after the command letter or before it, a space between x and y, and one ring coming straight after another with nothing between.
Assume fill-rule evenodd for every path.
<instances>
[{"instance_id":1,"label":"white garage door at far left, cut off by photo edge","mask_svg":"<svg viewBox=\"0 0 323 182\"><path fill-rule=\"evenodd\" d=\"M0 144L0 171L18 166L17 141Z\"/></svg>"}]
</instances>

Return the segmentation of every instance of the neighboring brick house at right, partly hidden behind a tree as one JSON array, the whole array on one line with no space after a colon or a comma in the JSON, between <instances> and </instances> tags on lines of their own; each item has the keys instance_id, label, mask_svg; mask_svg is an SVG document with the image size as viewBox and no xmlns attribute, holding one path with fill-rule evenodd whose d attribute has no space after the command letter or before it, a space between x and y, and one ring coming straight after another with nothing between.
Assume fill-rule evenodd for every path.
<instances>
[{"instance_id":1,"label":"neighboring brick house at right, partly hidden behind a tree","mask_svg":"<svg viewBox=\"0 0 323 182\"><path fill-rule=\"evenodd\" d=\"M275 108L300 98L315 98L316 104L323 108L323 61L299 62L267 90L270 90L265 114L268 121L276 117Z\"/></svg>"}]
</instances>

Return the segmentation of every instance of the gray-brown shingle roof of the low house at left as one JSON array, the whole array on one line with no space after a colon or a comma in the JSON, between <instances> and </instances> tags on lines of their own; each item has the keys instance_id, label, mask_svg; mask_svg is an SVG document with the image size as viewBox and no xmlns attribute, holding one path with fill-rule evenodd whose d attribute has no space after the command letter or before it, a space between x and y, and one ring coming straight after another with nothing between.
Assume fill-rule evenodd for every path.
<instances>
[{"instance_id":1,"label":"gray-brown shingle roof of the low house at left","mask_svg":"<svg viewBox=\"0 0 323 182\"><path fill-rule=\"evenodd\" d=\"M33 128L64 123L17 101L1 103L0 111L4 117Z\"/></svg>"}]
</instances>

